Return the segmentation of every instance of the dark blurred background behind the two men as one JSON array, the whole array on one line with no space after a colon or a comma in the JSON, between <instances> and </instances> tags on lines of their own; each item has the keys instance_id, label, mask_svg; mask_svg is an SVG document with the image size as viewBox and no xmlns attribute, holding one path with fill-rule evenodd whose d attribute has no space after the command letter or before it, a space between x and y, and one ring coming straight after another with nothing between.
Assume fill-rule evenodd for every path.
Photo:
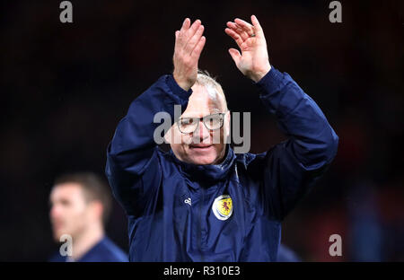
<instances>
[{"instance_id":1,"label":"dark blurred background behind the two men","mask_svg":"<svg viewBox=\"0 0 404 280\"><path fill-rule=\"evenodd\" d=\"M329 171L284 223L282 242L305 261L404 260L403 1L3 1L0 16L0 260L42 261L57 249L48 219L53 180L103 175L106 147L136 96L172 71L174 31L206 27L199 67L229 108L250 111L252 153L285 139L233 65L225 22L259 18L271 64L312 96L339 136ZM127 249L118 204L108 234ZM343 256L329 256L329 236Z\"/></svg>"}]
</instances>

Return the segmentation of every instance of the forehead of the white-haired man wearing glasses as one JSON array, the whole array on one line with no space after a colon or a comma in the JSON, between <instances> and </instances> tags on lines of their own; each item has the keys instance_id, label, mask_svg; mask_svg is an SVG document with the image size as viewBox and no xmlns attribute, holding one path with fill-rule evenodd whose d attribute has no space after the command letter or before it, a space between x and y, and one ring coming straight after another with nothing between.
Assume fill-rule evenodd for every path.
<instances>
[{"instance_id":1,"label":"forehead of the white-haired man wearing glasses","mask_svg":"<svg viewBox=\"0 0 404 280\"><path fill-rule=\"evenodd\" d=\"M189 96L187 109L185 109L181 118L200 118L222 112L222 110L220 95L216 92L215 87L196 83L192 86L192 94Z\"/></svg>"}]
</instances>

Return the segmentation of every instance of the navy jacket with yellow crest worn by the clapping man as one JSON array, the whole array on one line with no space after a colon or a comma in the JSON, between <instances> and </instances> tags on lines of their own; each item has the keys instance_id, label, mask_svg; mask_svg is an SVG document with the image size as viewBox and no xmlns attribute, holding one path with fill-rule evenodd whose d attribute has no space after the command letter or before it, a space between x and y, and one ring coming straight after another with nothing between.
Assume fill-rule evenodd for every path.
<instances>
[{"instance_id":1,"label":"navy jacket with yellow crest worn by the clapping man","mask_svg":"<svg viewBox=\"0 0 404 280\"><path fill-rule=\"evenodd\" d=\"M277 260L281 222L334 158L338 136L289 74L272 67L256 86L289 138L259 154L235 154L227 145L220 165L180 162L154 143L154 114L173 119L174 104L184 110L192 92L172 75L131 103L106 165L127 213L130 261ZM221 196L232 201L219 201L219 209Z\"/></svg>"}]
</instances>

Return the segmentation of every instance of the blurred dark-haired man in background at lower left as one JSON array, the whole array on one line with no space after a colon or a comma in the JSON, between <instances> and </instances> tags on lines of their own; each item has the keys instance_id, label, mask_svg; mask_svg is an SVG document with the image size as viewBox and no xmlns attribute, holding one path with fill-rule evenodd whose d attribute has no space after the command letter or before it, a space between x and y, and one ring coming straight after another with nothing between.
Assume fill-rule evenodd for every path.
<instances>
[{"instance_id":1,"label":"blurred dark-haired man in background at lower left","mask_svg":"<svg viewBox=\"0 0 404 280\"><path fill-rule=\"evenodd\" d=\"M50 193L50 222L59 242L71 236L72 254L57 251L52 262L125 262L127 254L105 234L111 209L110 190L106 182L90 172L58 177Z\"/></svg>"}]
</instances>

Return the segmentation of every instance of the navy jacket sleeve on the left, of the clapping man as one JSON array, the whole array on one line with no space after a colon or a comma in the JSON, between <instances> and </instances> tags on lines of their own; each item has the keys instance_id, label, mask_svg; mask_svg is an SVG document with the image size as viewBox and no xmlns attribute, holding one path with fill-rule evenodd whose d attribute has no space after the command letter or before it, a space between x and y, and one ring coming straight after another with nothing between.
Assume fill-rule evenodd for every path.
<instances>
[{"instance_id":1,"label":"navy jacket sleeve on the left, of the clapping man","mask_svg":"<svg viewBox=\"0 0 404 280\"><path fill-rule=\"evenodd\" d=\"M105 173L114 197L127 214L140 214L149 206L162 179L161 162L154 142L154 115L167 112L174 119L174 105L185 109L189 92L175 82L172 75L163 75L133 101L127 115L119 121L107 148Z\"/></svg>"}]
</instances>

